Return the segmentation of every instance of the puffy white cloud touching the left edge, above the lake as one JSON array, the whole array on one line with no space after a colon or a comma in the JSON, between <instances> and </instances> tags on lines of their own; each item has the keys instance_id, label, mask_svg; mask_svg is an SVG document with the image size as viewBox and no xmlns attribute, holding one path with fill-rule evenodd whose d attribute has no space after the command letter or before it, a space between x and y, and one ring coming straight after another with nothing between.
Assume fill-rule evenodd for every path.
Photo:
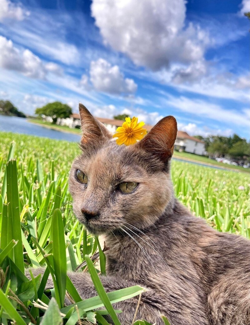
<instances>
[{"instance_id":1,"label":"puffy white cloud touching the left edge, above the lake","mask_svg":"<svg viewBox=\"0 0 250 325\"><path fill-rule=\"evenodd\" d=\"M61 68L53 63L46 64L30 50L20 50L11 40L0 35L0 67L7 70L21 72L26 77L45 79L47 72L62 74Z\"/></svg>"}]
</instances>

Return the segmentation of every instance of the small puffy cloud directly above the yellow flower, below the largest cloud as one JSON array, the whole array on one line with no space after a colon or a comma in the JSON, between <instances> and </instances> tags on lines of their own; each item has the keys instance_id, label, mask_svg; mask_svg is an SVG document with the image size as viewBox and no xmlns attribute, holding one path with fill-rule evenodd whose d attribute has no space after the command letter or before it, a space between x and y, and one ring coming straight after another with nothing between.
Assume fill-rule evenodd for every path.
<instances>
[{"instance_id":1,"label":"small puffy cloud directly above the yellow flower, below the largest cloud","mask_svg":"<svg viewBox=\"0 0 250 325\"><path fill-rule=\"evenodd\" d=\"M117 65L112 66L104 59L91 61L90 80L96 90L110 94L131 94L137 90L133 79L124 78Z\"/></svg>"}]
</instances>

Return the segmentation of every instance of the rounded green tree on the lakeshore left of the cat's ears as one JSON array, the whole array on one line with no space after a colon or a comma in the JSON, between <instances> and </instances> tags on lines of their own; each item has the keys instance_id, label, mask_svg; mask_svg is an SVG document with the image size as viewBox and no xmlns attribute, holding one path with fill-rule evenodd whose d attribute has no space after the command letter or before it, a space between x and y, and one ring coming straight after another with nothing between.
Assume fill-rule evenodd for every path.
<instances>
[{"instance_id":1,"label":"rounded green tree on the lakeshore left of the cat's ears","mask_svg":"<svg viewBox=\"0 0 250 325\"><path fill-rule=\"evenodd\" d=\"M72 114L72 109L67 104L62 104L61 102L49 103L41 108L35 110L37 115L51 116L53 119L53 124L56 124L58 118L67 118Z\"/></svg>"}]
</instances>

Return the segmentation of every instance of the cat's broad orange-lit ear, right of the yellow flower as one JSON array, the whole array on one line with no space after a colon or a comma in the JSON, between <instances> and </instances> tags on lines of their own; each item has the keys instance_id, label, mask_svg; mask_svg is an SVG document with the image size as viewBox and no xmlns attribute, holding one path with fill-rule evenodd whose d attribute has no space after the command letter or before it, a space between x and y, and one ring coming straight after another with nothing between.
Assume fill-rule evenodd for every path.
<instances>
[{"instance_id":1,"label":"cat's broad orange-lit ear, right of the yellow flower","mask_svg":"<svg viewBox=\"0 0 250 325\"><path fill-rule=\"evenodd\" d=\"M173 155L176 136L176 119L174 116L166 116L136 145L166 163Z\"/></svg>"}]
</instances>

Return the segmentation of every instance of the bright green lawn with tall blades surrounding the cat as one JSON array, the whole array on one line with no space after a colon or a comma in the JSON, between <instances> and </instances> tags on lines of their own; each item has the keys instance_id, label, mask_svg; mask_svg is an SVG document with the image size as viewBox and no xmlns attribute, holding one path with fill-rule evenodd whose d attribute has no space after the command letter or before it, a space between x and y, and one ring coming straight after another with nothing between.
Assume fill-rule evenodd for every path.
<instances>
[{"instance_id":1,"label":"bright green lawn with tall blades surrounding the cat","mask_svg":"<svg viewBox=\"0 0 250 325\"><path fill-rule=\"evenodd\" d=\"M76 324L80 317L86 323L96 319L106 325L103 311L96 310L105 306L119 324L112 302L138 296L143 288L104 292L98 278L105 274L104 254L99 270L91 262L98 239L74 217L68 193L68 174L80 153L78 146L5 132L0 132L0 146L0 323L46 325L49 320L52 324L53 315L53 324L59 325L61 309L64 324ZM176 196L194 215L218 231L250 238L250 175L173 161L172 178ZM75 270L85 260L99 296L82 301L66 270ZM39 265L47 266L44 276L28 280L23 267ZM55 286L51 300L44 294L49 273ZM65 292L77 307L64 307ZM46 312L42 304L48 305Z\"/></svg>"}]
</instances>

